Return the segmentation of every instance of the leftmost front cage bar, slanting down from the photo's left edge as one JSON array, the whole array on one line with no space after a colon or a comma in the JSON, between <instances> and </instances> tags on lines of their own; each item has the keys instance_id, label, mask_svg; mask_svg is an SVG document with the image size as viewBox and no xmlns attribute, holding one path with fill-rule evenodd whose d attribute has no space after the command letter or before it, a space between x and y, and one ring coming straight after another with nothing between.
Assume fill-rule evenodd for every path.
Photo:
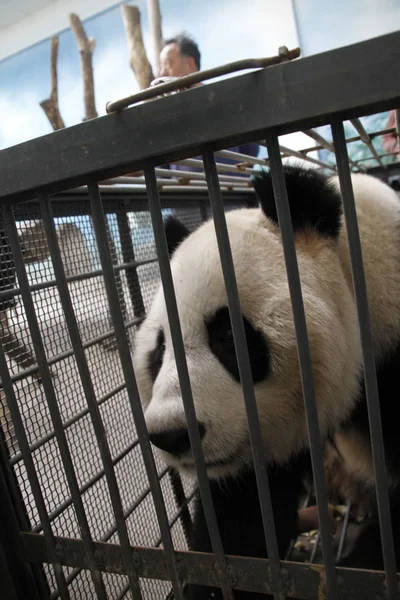
<instances>
[{"instance_id":1,"label":"leftmost front cage bar, slanting down from the photo's left edge","mask_svg":"<svg viewBox=\"0 0 400 600\"><path fill-rule=\"evenodd\" d=\"M29 449L28 439L26 437L24 425L21 419L21 415L18 408L18 402L15 397L13 384L11 381L10 373L7 366L7 360L4 354L4 348L0 344L0 376L4 391L7 396L8 408L10 409L11 418L14 423L15 432L17 434L20 451L24 460L26 472L28 474L29 483L32 488L32 494L35 499L36 507L39 513L40 521L43 526L43 532L46 538L46 542L49 545L51 554L51 564L54 568L54 574L56 577L57 586L60 592L62 600L70 600L69 591L65 581L64 572L57 559L56 544L54 540L54 534L51 528L49 515L47 513L46 505L43 499L42 490L36 474L35 465L33 463L31 451Z\"/></svg>"}]
</instances>

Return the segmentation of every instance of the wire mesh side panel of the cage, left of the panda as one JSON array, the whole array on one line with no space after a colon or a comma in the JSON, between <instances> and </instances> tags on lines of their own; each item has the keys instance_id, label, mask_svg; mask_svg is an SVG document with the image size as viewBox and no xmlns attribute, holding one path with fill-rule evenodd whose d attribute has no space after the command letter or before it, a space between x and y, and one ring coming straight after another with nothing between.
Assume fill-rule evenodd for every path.
<instances>
[{"instance_id":1,"label":"wire mesh side panel of the cage, left of the panda","mask_svg":"<svg viewBox=\"0 0 400 600\"><path fill-rule=\"evenodd\" d=\"M129 543L133 546L159 547L162 546L162 539L124 374L116 351L89 197L87 192L80 193L72 201L65 200L65 204L61 197L63 205L57 200L53 201L53 210L57 215L54 217L54 227L60 259L99 415L107 436ZM246 204L246 201L240 202ZM190 229L195 229L204 219L203 205L204 200L198 207L181 208L178 205L175 208L165 208L164 213L178 213ZM239 201L235 199L230 204L231 207L239 205ZM107 207L114 211L107 213L108 247L115 268L118 299L128 341L133 345L135 328L148 310L159 281L151 220L148 211L121 209L120 198L108 201ZM105 469L60 289L57 287L42 212L38 203L17 205L13 212L21 248L27 246L29 240L30 260L27 260L26 251L24 252L26 276L46 360L50 365L50 384L57 400L65 434L64 442L70 452L88 531L93 540L119 543ZM2 344L15 399L52 531L55 536L80 538L81 525L63 468L60 441L57 440L42 385L5 229L2 231L2 240L3 247L7 250L2 254L1 292L6 296L2 301ZM21 490L30 528L35 533L41 533L43 519L37 511L3 389L1 394L2 432L10 464ZM157 459L156 466L174 543L177 548L187 548L185 528L190 527L187 506L193 498L193 483L185 479L181 481L177 474L171 478L160 459ZM62 597L63 593L51 567L46 566L45 574L51 597ZM63 574L71 597L89 598L95 594L96 588L90 571L63 567ZM103 578L101 587L110 598L122 598L131 593L126 577L110 574ZM160 598L169 594L171 585L142 580L140 588L144 597Z\"/></svg>"}]
</instances>

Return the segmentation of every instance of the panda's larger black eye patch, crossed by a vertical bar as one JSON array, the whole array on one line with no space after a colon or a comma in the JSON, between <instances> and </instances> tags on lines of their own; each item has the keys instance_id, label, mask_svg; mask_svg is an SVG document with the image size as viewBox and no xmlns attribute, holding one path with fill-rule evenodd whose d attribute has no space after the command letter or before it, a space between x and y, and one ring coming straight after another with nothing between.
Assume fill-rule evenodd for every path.
<instances>
[{"instance_id":1,"label":"panda's larger black eye patch, crossed by a vertical bar","mask_svg":"<svg viewBox=\"0 0 400 600\"><path fill-rule=\"evenodd\" d=\"M243 324L249 349L253 382L257 383L265 379L269 373L268 344L264 335L255 329L244 316ZM218 309L213 317L206 320L205 325L211 352L218 358L228 373L236 381L240 382L239 366L228 308Z\"/></svg>"}]
</instances>

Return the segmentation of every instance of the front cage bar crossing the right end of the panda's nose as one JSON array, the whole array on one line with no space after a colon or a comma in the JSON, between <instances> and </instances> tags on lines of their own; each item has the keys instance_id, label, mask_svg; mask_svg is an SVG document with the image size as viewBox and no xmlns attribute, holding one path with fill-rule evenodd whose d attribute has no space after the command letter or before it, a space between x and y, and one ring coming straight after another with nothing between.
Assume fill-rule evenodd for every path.
<instances>
[{"instance_id":1,"label":"front cage bar crossing the right end of the panda's nose","mask_svg":"<svg viewBox=\"0 0 400 600\"><path fill-rule=\"evenodd\" d=\"M168 256L167 240L165 238L160 196L158 193L157 180L153 167L148 167L145 170L145 179L149 199L149 209L153 223L154 241L156 244L158 263L160 267L161 282L164 290L165 305L167 308L168 320L171 329L172 345L174 348L179 384L181 386L182 401L186 423L188 426L190 445L196 465L204 516L210 535L211 547L215 554L215 568L219 577L222 594L224 600L232 600L232 590L228 581L224 549L222 546L217 517L212 501L210 482L208 480L199 427L193 403L192 388L190 385L189 371L186 363L182 329L179 321L178 306L176 303L174 284L171 274L171 265Z\"/></svg>"}]
</instances>

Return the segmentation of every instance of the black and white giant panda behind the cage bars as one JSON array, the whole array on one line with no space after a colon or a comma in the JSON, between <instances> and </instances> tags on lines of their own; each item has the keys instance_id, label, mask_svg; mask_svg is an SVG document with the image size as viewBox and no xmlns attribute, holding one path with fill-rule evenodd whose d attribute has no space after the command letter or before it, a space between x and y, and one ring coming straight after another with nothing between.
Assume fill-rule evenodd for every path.
<instances>
[{"instance_id":1,"label":"black and white giant panda behind the cage bars","mask_svg":"<svg viewBox=\"0 0 400 600\"><path fill-rule=\"evenodd\" d=\"M351 479L374 495L357 311L337 177L285 167L321 433ZM400 437L393 408L400 377L400 203L371 176L352 184L367 280L394 531ZM280 556L296 532L310 453L282 240L270 173L254 177L260 207L228 212ZM266 557L248 423L212 220L189 232L166 226L171 271L207 473L226 554ZM150 440L164 460L196 477L162 289L136 339L134 368ZM376 515L375 515L376 517ZM396 537L396 536L395 536ZM382 568L377 519L361 546ZM396 538L397 539L397 538ZM397 544L397 541L396 541ZM211 551L200 498L190 548ZM365 553L364 553L365 558ZM360 566L355 549L348 566ZM222 598L189 586L188 598ZM236 591L236 599L266 598Z\"/></svg>"}]
</instances>

